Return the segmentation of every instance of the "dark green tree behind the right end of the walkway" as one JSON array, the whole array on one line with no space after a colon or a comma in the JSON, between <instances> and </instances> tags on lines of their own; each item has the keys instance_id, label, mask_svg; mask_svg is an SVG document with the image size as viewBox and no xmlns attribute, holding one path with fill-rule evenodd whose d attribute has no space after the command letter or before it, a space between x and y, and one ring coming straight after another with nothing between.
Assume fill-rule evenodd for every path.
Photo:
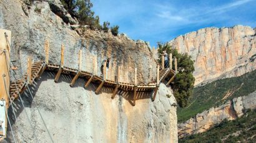
<instances>
[{"instance_id":1,"label":"dark green tree behind the right end of the walkway","mask_svg":"<svg viewBox=\"0 0 256 143\"><path fill-rule=\"evenodd\" d=\"M178 73L170 86L174 90L174 96L180 107L184 108L187 106L187 101L189 96L192 95L192 89L194 88L195 78L192 75L194 72L194 62L187 53L178 53L175 48L172 48L169 44L158 43L158 54L159 59L160 54L165 50L167 54L172 53L172 57L177 58ZM159 60L160 63L160 60ZM172 60L172 65L174 65L174 60Z\"/></svg>"}]
</instances>

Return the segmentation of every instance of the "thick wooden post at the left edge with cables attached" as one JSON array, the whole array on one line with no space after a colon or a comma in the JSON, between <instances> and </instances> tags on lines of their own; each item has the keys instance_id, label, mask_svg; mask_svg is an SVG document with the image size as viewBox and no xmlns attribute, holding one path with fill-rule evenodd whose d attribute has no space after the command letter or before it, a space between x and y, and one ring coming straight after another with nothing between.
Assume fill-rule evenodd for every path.
<instances>
[{"instance_id":1,"label":"thick wooden post at the left edge with cables attached","mask_svg":"<svg viewBox=\"0 0 256 143\"><path fill-rule=\"evenodd\" d=\"M7 36L7 40L6 40ZM9 42L9 43L8 43ZM10 55L11 52L11 31L0 29L0 120L2 122L2 132L1 136L6 137L7 130L7 118L5 112L9 107L9 87L10 87ZM6 111L5 111L6 108ZM1 141L1 139L0 139Z\"/></svg>"}]
</instances>

